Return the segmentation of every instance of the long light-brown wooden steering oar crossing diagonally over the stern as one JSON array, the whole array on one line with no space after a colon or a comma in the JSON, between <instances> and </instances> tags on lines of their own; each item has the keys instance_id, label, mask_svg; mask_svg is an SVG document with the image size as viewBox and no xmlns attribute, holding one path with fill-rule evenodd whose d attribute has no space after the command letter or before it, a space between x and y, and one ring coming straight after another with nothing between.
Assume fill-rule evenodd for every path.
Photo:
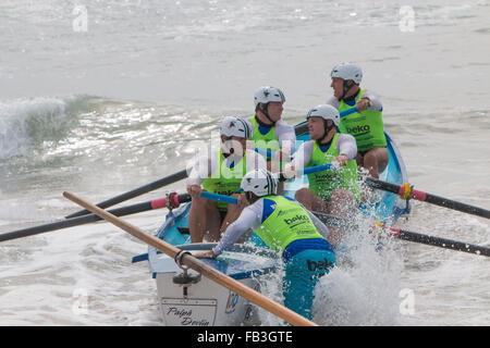
<instances>
[{"instance_id":1,"label":"long light-brown wooden steering oar crossing diagonally over the stern","mask_svg":"<svg viewBox=\"0 0 490 348\"><path fill-rule=\"evenodd\" d=\"M70 199L71 201L79 204L81 207L84 207L85 209L91 211L93 213L99 215L100 217L109 221L110 223L114 224L115 226L122 228L123 231L127 232L132 236L143 240L147 245L160 250L161 252L164 252L169 257L175 258L177 254L180 256L181 264L186 265L204 276L210 278L211 281L220 284L221 286L224 286L225 288L229 288L235 294L238 294L240 296L246 298L250 302L259 306L260 308L265 309L266 311L271 312L274 315L278 315L279 318L285 320L292 325L298 325L298 326L317 326L314 322L307 320L306 318L297 314L296 312L285 308L284 306L281 306L271 299L267 298L266 296L261 295L260 293L257 293L249 287L243 285L242 283L233 279L232 277L222 274L221 272L210 268L205 262L196 259L189 253L181 253L181 250L175 248L174 246L171 246L163 240L154 237L149 234L146 234L145 232L140 231L136 226L125 222L124 220L121 220L117 217L115 215L112 215L111 213L105 211L103 209L100 209L94 204L90 204L83 199L76 197L73 194L70 192L63 192L63 196Z\"/></svg>"}]
</instances>

